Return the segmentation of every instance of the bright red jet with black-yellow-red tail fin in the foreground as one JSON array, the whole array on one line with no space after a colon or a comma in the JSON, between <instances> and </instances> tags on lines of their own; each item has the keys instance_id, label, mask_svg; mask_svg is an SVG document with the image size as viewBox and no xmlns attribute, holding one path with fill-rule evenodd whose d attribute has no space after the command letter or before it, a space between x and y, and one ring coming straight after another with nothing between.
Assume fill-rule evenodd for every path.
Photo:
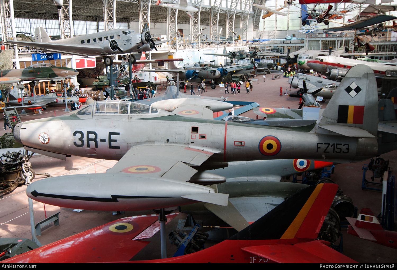
<instances>
[{"instance_id":1,"label":"bright red jet with black-yellow-red tail fin in the foreground","mask_svg":"<svg viewBox=\"0 0 397 270\"><path fill-rule=\"evenodd\" d=\"M309 186L229 239L168 259L129 261L158 231L157 216L123 218L2 263L39 262L316 262L355 263L317 238L336 184ZM176 216L176 214L174 214ZM170 216L169 216L170 217ZM160 249L160 247L159 247Z\"/></svg>"}]
</instances>

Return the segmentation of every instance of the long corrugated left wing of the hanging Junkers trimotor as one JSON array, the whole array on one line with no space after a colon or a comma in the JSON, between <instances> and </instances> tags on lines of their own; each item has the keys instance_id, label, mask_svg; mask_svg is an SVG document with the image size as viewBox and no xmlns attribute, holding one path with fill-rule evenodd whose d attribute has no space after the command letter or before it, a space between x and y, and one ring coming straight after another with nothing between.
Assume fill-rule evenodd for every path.
<instances>
[{"instance_id":1,"label":"long corrugated left wing of the hanging Junkers trimotor","mask_svg":"<svg viewBox=\"0 0 397 270\"><path fill-rule=\"evenodd\" d=\"M71 54L81 56L97 55L102 50L101 46L98 45L86 45L86 44L61 44L53 42L31 42L31 41L5 41L5 44L15 44L22 47L33 47L42 49L49 52L68 52Z\"/></svg>"}]
</instances>

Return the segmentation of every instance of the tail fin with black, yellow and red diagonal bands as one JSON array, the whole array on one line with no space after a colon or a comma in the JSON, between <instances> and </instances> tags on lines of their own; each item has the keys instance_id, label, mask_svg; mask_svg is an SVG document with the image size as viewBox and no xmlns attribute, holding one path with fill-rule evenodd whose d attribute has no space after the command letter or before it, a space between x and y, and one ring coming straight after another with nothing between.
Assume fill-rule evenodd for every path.
<instances>
[{"instance_id":1,"label":"tail fin with black, yellow and red diagonal bands","mask_svg":"<svg viewBox=\"0 0 397 270\"><path fill-rule=\"evenodd\" d=\"M229 239L315 239L337 188L330 183L304 188Z\"/></svg>"}]
</instances>

